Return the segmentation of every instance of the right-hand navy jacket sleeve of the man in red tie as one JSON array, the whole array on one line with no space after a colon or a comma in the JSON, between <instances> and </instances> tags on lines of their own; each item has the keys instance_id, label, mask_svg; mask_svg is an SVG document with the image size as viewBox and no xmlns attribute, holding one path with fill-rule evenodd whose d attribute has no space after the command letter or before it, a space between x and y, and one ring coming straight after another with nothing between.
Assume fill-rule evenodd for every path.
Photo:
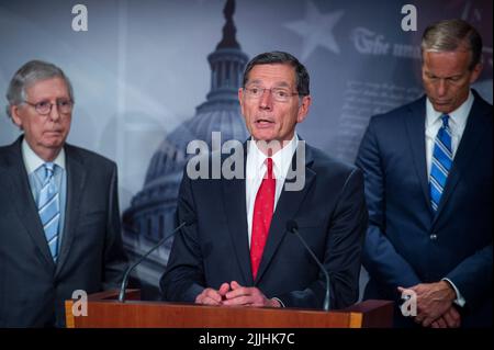
<instances>
[{"instance_id":1,"label":"right-hand navy jacket sleeve of the man in red tie","mask_svg":"<svg viewBox=\"0 0 494 350\"><path fill-rule=\"evenodd\" d=\"M363 195L362 173L353 169L339 194L328 227L328 239L323 264L330 279L330 308L344 308L357 302L361 250L368 213ZM325 278L304 291L294 291L279 297L289 307L321 307L325 294Z\"/></svg>"}]
</instances>

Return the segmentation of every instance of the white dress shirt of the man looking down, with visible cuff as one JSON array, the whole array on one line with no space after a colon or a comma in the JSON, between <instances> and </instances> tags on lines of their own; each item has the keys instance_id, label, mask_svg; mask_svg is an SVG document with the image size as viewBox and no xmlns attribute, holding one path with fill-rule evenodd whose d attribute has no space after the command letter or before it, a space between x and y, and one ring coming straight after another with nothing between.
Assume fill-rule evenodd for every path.
<instances>
[{"instance_id":1,"label":"white dress shirt of the man looking down, with visible cuff","mask_svg":"<svg viewBox=\"0 0 494 350\"><path fill-rule=\"evenodd\" d=\"M463 136L464 127L467 125L467 120L470 114L470 110L473 104L473 93L469 92L469 97L467 100L454 111L448 113L449 115L449 129L451 133L451 151L454 159L454 156L458 150L458 146L460 145L461 137ZM426 136L426 160L427 160L427 178L430 177L430 168L433 166L433 151L434 151L434 143L436 140L437 133L439 128L442 126L441 115L442 112L438 112L434 109L433 103L430 103L429 99L426 99L426 123L425 123L425 136ZM464 297L461 295L460 291L457 289L454 283L452 283L449 279L442 279L444 281L448 281L449 284L453 287L457 300L456 304L463 306L465 304Z\"/></svg>"}]
</instances>

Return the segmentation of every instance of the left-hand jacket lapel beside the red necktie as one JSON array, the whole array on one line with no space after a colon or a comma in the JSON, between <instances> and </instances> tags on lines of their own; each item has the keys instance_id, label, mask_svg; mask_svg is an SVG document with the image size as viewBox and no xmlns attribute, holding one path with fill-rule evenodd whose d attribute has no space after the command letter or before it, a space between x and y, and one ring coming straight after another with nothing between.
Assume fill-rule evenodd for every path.
<instances>
[{"instance_id":1,"label":"left-hand jacket lapel beside the red necktie","mask_svg":"<svg viewBox=\"0 0 494 350\"><path fill-rule=\"evenodd\" d=\"M244 177L242 179L222 179L223 202L228 223L229 235L233 247L240 267L244 281L242 285L252 285L252 271L250 268L250 250L248 241L246 189L245 189L245 163L246 144L244 144Z\"/></svg>"}]
</instances>

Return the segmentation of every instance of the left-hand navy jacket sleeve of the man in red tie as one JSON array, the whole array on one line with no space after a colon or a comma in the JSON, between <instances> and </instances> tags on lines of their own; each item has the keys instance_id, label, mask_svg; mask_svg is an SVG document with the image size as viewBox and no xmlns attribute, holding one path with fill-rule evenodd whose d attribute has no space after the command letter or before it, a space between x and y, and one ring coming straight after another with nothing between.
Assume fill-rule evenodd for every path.
<instances>
[{"instance_id":1,"label":"left-hand navy jacket sleeve of the man in red tie","mask_svg":"<svg viewBox=\"0 0 494 350\"><path fill-rule=\"evenodd\" d=\"M187 172L183 172L178 197L177 224L183 222L186 217L197 217L195 213L191 180ZM160 280L164 300L195 302L195 297L204 290L202 261L198 225L181 228L173 239L167 269Z\"/></svg>"}]
</instances>

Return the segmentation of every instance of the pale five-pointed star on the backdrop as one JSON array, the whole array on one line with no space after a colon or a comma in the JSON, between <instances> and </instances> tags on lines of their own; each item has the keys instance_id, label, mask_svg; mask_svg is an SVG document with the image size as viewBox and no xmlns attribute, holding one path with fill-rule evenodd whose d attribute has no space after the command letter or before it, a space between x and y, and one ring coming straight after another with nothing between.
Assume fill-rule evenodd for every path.
<instances>
[{"instance_id":1,"label":"pale five-pointed star on the backdrop","mask_svg":"<svg viewBox=\"0 0 494 350\"><path fill-rule=\"evenodd\" d=\"M333 35L333 27L345 11L321 13L312 1L307 1L305 19L285 23L284 26L303 37L302 60L305 60L317 46L339 54L338 44Z\"/></svg>"}]
</instances>

